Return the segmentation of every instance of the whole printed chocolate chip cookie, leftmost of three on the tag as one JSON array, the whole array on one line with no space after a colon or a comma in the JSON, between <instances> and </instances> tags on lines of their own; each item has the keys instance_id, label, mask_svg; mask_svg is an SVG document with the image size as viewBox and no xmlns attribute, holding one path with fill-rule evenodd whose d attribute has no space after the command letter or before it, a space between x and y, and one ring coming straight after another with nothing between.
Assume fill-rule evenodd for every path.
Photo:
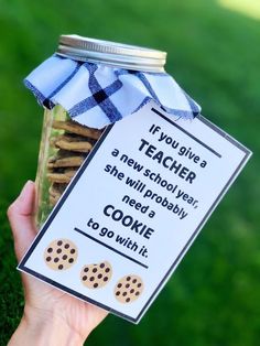
<instances>
[{"instance_id":1,"label":"whole printed chocolate chip cookie, leftmost of three on the tag","mask_svg":"<svg viewBox=\"0 0 260 346\"><path fill-rule=\"evenodd\" d=\"M71 268L77 260L77 247L68 239L53 240L44 251L44 261L53 270Z\"/></svg>"}]
</instances>

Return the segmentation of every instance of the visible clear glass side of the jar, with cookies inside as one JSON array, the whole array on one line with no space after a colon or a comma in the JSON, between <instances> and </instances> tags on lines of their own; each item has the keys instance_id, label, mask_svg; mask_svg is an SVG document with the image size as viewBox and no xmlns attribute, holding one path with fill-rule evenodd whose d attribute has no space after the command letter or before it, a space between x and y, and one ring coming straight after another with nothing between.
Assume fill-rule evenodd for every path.
<instances>
[{"instance_id":1,"label":"visible clear glass side of the jar, with cookies inside","mask_svg":"<svg viewBox=\"0 0 260 346\"><path fill-rule=\"evenodd\" d=\"M61 106L45 110L36 174L39 227L46 220L101 132L73 121Z\"/></svg>"}]
</instances>

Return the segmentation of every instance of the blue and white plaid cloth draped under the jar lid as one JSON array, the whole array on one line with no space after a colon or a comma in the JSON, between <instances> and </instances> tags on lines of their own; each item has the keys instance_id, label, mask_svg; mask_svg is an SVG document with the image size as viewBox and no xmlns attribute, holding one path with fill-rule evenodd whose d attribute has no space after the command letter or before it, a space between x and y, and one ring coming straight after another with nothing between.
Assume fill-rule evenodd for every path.
<instances>
[{"instance_id":1,"label":"blue and white plaid cloth draped under the jar lid","mask_svg":"<svg viewBox=\"0 0 260 346\"><path fill-rule=\"evenodd\" d=\"M144 73L78 62L57 54L25 79L40 105L61 105L73 120L102 128L133 113L151 99L169 113L193 119L201 107L166 73Z\"/></svg>"}]
</instances>

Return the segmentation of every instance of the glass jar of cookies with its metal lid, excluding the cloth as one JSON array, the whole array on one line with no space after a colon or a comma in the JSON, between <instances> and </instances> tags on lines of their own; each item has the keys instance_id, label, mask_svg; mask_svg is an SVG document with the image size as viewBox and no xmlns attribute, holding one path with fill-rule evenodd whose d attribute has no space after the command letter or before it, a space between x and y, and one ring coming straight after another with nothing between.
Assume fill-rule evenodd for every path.
<instances>
[{"instance_id":1,"label":"glass jar of cookies with its metal lid, excluding the cloth","mask_svg":"<svg viewBox=\"0 0 260 346\"><path fill-rule=\"evenodd\" d=\"M155 73L164 72L166 57L164 52L78 35L62 35L57 54L79 62ZM101 132L72 120L62 106L44 110L36 173L39 227L46 220Z\"/></svg>"}]
</instances>

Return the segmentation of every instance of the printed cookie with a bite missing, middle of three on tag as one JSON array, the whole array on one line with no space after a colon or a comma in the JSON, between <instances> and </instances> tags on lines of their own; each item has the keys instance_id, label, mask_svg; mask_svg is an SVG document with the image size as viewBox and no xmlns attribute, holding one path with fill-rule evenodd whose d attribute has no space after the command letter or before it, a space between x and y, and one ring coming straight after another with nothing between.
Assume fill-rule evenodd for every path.
<instances>
[{"instance_id":1,"label":"printed cookie with a bite missing, middle of three on tag","mask_svg":"<svg viewBox=\"0 0 260 346\"><path fill-rule=\"evenodd\" d=\"M88 289L104 288L112 277L112 267L108 261L83 267L80 280Z\"/></svg>"}]
</instances>

